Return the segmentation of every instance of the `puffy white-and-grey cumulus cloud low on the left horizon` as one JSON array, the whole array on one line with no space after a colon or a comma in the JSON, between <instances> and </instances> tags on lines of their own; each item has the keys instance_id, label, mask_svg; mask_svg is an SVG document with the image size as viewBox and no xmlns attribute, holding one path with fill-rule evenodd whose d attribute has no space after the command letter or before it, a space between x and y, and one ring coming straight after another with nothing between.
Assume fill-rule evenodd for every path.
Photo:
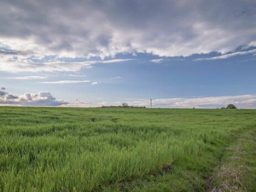
<instances>
[{"instance_id":1,"label":"puffy white-and-grey cumulus cloud low on the left horizon","mask_svg":"<svg viewBox=\"0 0 256 192\"><path fill-rule=\"evenodd\" d=\"M24 93L21 96L0 91L0 105L20 105L20 106L60 106L68 102L55 99L49 92Z\"/></svg>"}]
</instances>

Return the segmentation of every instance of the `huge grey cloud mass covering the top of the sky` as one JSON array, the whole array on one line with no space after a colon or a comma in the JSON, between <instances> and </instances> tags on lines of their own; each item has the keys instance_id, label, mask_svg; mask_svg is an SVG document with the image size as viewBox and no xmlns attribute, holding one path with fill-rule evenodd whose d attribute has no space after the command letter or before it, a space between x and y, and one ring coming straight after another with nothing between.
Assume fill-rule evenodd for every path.
<instances>
[{"instance_id":1,"label":"huge grey cloud mass covering the top of the sky","mask_svg":"<svg viewBox=\"0 0 256 192\"><path fill-rule=\"evenodd\" d=\"M255 18L254 0L1 1L0 69L77 71L90 65L29 61L46 55L223 54L255 41Z\"/></svg>"}]
</instances>

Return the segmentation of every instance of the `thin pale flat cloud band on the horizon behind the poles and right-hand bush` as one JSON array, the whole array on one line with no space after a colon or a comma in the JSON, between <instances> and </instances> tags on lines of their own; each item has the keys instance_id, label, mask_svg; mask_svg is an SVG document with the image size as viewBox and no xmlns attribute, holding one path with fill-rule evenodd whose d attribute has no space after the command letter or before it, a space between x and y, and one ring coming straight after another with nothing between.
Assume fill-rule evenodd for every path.
<instances>
[{"instance_id":1,"label":"thin pale flat cloud band on the horizon behind the poles and right-hand bush","mask_svg":"<svg viewBox=\"0 0 256 192\"><path fill-rule=\"evenodd\" d=\"M79 107L121 105L123 102L127 102L130 106L150 107L150 99L124 99L124 101L115 102L81 102L79 103ZM221 108L226 107L228 104L235 104L238 108L256 108L256 94L202 98L152 99L153 107L161 108ZM74 104L68 104L66 106L73 107Z\"/></svg>"}]
</instances>

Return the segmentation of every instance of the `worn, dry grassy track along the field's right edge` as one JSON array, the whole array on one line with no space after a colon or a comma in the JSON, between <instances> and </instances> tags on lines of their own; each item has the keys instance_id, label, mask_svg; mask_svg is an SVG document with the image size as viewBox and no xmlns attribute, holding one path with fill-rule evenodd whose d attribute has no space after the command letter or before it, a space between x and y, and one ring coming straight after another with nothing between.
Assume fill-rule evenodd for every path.
<instances>
[{"instance_id":1,"label":"worn, dry grassy track along the field's right edge","mask_svg":"<svg viewBox=\"0 0 256 192\"><path fill-rule=\"evenodd\" d=\"M256 127L241 133L224 152L208 191L256 191Z\"/></svg>"}]
</instances>

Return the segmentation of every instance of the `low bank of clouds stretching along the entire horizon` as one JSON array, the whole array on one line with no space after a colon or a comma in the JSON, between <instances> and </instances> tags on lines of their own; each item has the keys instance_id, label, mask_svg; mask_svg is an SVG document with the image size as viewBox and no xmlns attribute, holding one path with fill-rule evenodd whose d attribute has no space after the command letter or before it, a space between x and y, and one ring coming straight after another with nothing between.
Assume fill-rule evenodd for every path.
<instances>
[{"instance_id":1,"label":"low bank of clouds stretching along the entire horizon","mask_svg":"<svg viewBox=\"0 0 256 192\"><path fill-rule=\"evenodd\" d=\"M98 99L102 100L102 98ZM123 102L127 102L129 105L138 107L150 107L150 99L129 99L127 101L115 102L79 101L78 107L121 105ZM256 108L256 94L204 98L152 99L153 107L160 108L221 108L226 107L228 104L235 104L238 108ZM0 105L76 107L76 104L69 104L68 102L55 99L49 92L24 93L21 96L15 96L4 90L0 90Z\"/></svg>"}]
</instances>

